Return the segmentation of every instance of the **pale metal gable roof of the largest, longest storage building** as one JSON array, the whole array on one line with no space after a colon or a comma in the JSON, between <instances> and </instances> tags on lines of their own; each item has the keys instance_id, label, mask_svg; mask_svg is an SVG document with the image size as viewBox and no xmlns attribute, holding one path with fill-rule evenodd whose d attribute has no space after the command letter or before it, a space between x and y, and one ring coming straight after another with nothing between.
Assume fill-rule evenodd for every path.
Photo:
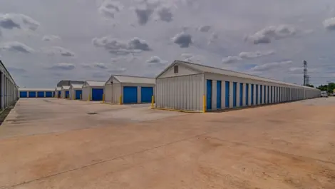
<instances>
[{"instance_id":1,"label":"pale metal gable roof of the largest, longest storage building","mask_svg":"<svg viewBox=\"0 0 335 189\"><path fill-rule=\"evenodd\" d=\"M173 63L171 63L171 65L168 66L168 68L166 68L165 71L167 71L170 67L172 67L175 64L180 64L182 66L185 66L185 67L190 68L192 70L198 71L200 73L217 73L217 74L225 75L225 76L235 76L235 77L239 77L239 78L249 78L249 79L256 80L256 81L278 83L278 84L284 84L284 85L287 85L287 86L299 86L299 85L293 84L293 83L286 83L286 82L283 82L283 81L277 81L277 80L270 79L270 78L252 76L252 75L249 75L247 73L240 73L240 72L237 72L237 71L228 71L228 70L221 69L221 68L215 68L215 67L211 67L211 66L205 66L205 65L202 65L202 64L190 63L190 62L186 62L186 61L177 61L177 60L173 61ZM165 71L160 73L156 78L158 78L160 75L162 75ZM311 87L308 87L308 86L299 86L299 87L311 88Z\"/></svg>"}]
</instances>

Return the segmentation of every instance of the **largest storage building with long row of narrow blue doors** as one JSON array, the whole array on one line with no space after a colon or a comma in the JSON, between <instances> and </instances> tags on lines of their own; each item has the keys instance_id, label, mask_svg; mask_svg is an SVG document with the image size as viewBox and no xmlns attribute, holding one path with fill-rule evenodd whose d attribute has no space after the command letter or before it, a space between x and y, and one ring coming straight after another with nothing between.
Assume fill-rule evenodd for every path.
<instances>
[{"instance_id":1,"label":"largest storage building with long row of narrow blue doors","mask_svg":"<svg viewBox=\"0 0 335 189\"><path fill-rule=\"evenodd\" d=\"M156 77L156 108L217 111L317 98L316 88L185 61Z\"/></svg>"}]
</instances>

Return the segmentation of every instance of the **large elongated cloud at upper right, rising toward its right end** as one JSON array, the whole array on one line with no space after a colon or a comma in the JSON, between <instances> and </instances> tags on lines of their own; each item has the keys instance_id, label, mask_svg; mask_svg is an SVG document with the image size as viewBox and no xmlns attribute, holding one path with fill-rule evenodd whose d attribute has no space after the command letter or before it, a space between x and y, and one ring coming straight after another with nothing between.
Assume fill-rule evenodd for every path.
<instances>
[{"instance_id":1,"label":"large elongated cloud at upper right, rising toward its right end","mask_svg":"<svg viewBox=\"0 0 335 189\"><path fill-rule=\"evenodd\" d=\"M272 39L284 39L295 34L297 34L297 29L294 26L268 26L255 34L247 36L245 40L251 41L253 44L269 44Z\"/></svg>"}]
</instances>

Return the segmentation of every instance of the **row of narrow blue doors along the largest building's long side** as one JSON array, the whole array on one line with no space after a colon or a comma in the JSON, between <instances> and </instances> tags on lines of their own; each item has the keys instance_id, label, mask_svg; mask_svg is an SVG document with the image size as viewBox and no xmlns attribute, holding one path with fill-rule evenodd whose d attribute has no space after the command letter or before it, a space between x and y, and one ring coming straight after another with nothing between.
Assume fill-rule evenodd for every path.
<instances>
[{"instance_id":1,"label":"row of narrow blue doors along the largest building's long side","mask_svg":"<svg viewBox=\"0 0 335 189\"><path fill-rule=\"evenodd\" d=\"M230 107L230 82L229 81L217 81L217 109L222 109L221 107L221 96L222 96L222 82L225 82L225 108ZM207 80L207 96L206 96L206 105L207 110L212 109L212 80ZM259 88L259 90L258 90ZM265 89L270 91L270 93L276 93L276 96L271 96L270 93L267 93L267 101L265 101ZM283 90L284 88L282 88ZM256 101L254 101L254 90L256 90ZM274 101L279 101L279 99L284 99L284 93L282 96L279 96L279 87L274 86L263 86L258 84L249 84L245 83L245 87L243 87L243 83L239 83L239 106L243 106L243 94L245 93L245 103L249 104L249 91L250 91L250 103L251 105L258 105L262 103L274 103ZM260 93L260 94L259 94ZM259 96L259 98L258 98ZM237 107L237 82L232 83L232 107Z\"/></svg>"}]
</instances>

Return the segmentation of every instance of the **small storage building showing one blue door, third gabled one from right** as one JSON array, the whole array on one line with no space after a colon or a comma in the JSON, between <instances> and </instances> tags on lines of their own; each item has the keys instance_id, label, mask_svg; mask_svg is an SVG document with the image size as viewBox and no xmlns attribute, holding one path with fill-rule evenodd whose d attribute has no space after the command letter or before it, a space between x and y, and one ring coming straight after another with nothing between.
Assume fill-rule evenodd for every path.
<instances>
[{"instance_id":1,"label":"small storage building showing one blue door, third gabled one from right","mask_svg":"<svg viewBox=\"0 0 335 189\"><path fill-rule=\"evenodd\" d=\"M83 83L83 101L103 101L105 81L86 81Z\"/></svg>"}]
</instances>

